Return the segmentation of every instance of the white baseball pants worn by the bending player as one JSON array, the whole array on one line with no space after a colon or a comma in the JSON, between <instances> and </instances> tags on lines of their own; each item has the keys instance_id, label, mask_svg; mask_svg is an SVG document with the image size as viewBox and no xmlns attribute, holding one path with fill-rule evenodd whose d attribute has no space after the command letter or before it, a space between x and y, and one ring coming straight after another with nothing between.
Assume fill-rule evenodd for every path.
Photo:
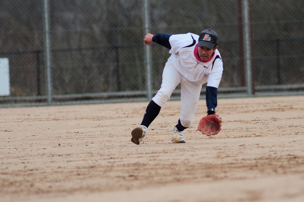
<instances>
[{"instance_id":1,"label":"white baseball pants worn by the bending player","mask_svg":"<svg viewBox=\"0 0 304 202\"><path fill-rule=\"evenodd\" d=\"M202 84L186 79L171 65L171 62L166 62L162 75L161 89L152 100L162 107L170 99L173 90L179 83L181 83L181 125L190 127L199 103Z\"/></svg>"}]
</instances>

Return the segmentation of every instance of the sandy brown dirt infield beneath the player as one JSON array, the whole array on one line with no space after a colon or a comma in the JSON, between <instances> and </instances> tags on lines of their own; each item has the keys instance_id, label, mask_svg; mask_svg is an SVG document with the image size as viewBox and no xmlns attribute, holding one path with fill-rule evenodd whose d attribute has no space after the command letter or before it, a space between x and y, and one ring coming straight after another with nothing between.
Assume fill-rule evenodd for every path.
<instances>
[{"instance_id":1,"label":"sandy brown dirt infield beneath the player","mask_svg":"<svg viewBox=\"0 0 304 202\"><path fill-rule=\"evenodd\" d=\"M0 201L304 201L304 96L219 99L222 131L171 142L169 101L140 145L148 102L0 108Z\"/></svg>"}]
</instances>

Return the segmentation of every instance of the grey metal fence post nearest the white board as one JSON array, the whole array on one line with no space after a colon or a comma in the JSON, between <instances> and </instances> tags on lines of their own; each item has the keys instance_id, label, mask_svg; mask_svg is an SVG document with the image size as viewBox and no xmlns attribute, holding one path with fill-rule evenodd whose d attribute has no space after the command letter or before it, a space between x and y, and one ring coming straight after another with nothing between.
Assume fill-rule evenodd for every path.
<instances>
[{"instance_id":1,"label":"grey metal fence post nearest the white board","mask_svg":"<svg viewBox=\"0 0 304 202\"><path fill-rule=\"evenodd\" d=\"M42 0L43 3L43 36L44 36L44 65L46 72L47 103L52 103L52 71L51 71L51 39L50 39L50 12L49 0Z\"/></svg>"}]
</instances>

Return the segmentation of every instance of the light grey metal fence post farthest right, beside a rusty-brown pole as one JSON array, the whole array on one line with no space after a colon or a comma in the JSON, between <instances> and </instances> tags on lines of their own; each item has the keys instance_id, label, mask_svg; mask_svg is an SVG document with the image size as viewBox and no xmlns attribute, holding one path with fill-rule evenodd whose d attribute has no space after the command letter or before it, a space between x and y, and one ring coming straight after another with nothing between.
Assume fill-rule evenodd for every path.
<instances>
[{"instance_id":1,"label":"light grey metal fence post farthest right, beside a rusty-brown pole","mask_svg":"<svg viewBox=\"0 0 304 202\"><path fill-rule=\"evenodd\" d=\"M247 94L253 96L252 86L252 69L251 69L251 40L250 40L250 21L249 21L249 4L248 0L243 0L243 19L244 19L244 49L245 49L245 66L247 78Z\"/></svg>"}]
</instances>

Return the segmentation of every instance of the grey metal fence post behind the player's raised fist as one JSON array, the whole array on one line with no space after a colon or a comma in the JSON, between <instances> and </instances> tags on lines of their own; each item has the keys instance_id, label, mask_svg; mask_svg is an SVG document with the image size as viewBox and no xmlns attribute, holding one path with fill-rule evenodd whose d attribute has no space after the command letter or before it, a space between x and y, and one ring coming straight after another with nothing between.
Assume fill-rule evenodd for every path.
<instances>
[{"instance_id":1,"label":"grey metal fence post behind the player's raised fist","mask_svg":"<svg viewBox=\"0 0 304 202\"><path fill-rule=\"evenodd\" d=\"M149 0L143 0L143 22L144 22L144 35L150 32L150 12ZM152 85L151 85L151 49L150 45L144 46L145 67L146 67L146 86L147 98L152 99Z\"/></svg>"}]
</instances>

